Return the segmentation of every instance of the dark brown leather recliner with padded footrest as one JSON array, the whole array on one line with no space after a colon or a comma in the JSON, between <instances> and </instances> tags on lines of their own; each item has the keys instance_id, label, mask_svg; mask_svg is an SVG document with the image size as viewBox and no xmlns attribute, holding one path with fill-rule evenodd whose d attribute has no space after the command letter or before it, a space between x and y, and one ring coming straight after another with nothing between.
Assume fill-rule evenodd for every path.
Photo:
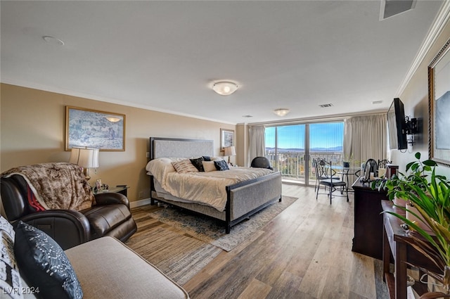
<instances>
[{"instance_id":1,"label":"dark brown leather recliner with padded footrest","mask_svg":"<svg viewBox=\"0 0 450 299\"><path fill-rule=\"evenodd\" d=\"M64 250L101 236L127 241L137 230L128 198L120 193L95 194L96 204L81 211L34 212L28 205L28 185L22 176L13 174L11 177L1 177L0 191L9 222L22 220L41 229Z\"/></svg>"}]
</instances>

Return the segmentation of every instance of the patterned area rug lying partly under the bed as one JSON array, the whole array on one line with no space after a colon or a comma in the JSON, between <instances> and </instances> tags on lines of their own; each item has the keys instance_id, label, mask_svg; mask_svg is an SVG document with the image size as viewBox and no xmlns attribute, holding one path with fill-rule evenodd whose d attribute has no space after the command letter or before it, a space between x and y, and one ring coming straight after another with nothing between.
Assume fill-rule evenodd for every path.
<instances>
[{"instance_id":1,"label":"patterned area rug lying partly under the bed","mask_svg":"<svg viewBox=\"0 0 450 299\"><path fill-rule=\"evenodd\" d=\"M160 222L184 231L186 234L210 243L223 250L230 251L243 241L248 240L256 231L264 227L276 215L297 200L295 197L283 196L281 203L276 201L250 219L231 227L230 234L225 233L223 224L210 217L193 215L179 208L165 208L149 214Z\"/></svg>"}]
</instances>

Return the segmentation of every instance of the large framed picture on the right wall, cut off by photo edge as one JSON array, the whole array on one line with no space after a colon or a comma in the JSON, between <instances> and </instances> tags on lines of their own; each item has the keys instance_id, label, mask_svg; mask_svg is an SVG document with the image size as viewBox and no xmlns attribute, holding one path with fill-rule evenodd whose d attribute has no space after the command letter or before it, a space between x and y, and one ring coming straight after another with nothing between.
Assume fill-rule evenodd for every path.
<instances>
[{"instance_id":1,"label":"large framed picture on the right wall, cut off by photo edge","mask_svg":"<svg viewBox=\"0 0 450 299\"><path fill-rule=\"evenodd\" d=\"M450 39L428 66L428 155L450 167Z\"/></svg>"}]
</instances>

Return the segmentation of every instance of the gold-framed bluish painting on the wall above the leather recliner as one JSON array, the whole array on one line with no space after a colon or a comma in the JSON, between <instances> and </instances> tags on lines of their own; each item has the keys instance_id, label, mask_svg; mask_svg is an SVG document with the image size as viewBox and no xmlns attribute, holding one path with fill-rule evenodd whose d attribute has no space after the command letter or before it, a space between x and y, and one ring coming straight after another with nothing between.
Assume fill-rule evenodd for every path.
<instances>
[{"instance_id":1,"label":"gold-framed bluish painting on the wall above the leather recliner","mask_svg":"<svg viewBox=\"0 0 450 299\"><path fill-rule=\"evenodd\" d=\"M65 150L73 147L125 151L125 115L66 106Z\"/></svg>"}]
</instances>

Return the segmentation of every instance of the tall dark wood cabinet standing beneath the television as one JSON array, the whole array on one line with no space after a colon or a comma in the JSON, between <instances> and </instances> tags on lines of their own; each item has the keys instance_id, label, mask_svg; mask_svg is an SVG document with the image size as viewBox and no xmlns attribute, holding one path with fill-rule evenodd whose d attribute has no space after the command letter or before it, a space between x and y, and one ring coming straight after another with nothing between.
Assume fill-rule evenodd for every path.
<instances>
[{"instance_id":1,"label":"tall dark wood cabinet standing beneath the television","mask_svg":"<svg viewBox=\"0 0 450 299\"><path fill-rule=\"evenodd\" d=\"M387 192L372 190L370 183L356 179L354 190L354 238L352 251L383 259L383 208Z\"/></svg>"}]
</instances>

